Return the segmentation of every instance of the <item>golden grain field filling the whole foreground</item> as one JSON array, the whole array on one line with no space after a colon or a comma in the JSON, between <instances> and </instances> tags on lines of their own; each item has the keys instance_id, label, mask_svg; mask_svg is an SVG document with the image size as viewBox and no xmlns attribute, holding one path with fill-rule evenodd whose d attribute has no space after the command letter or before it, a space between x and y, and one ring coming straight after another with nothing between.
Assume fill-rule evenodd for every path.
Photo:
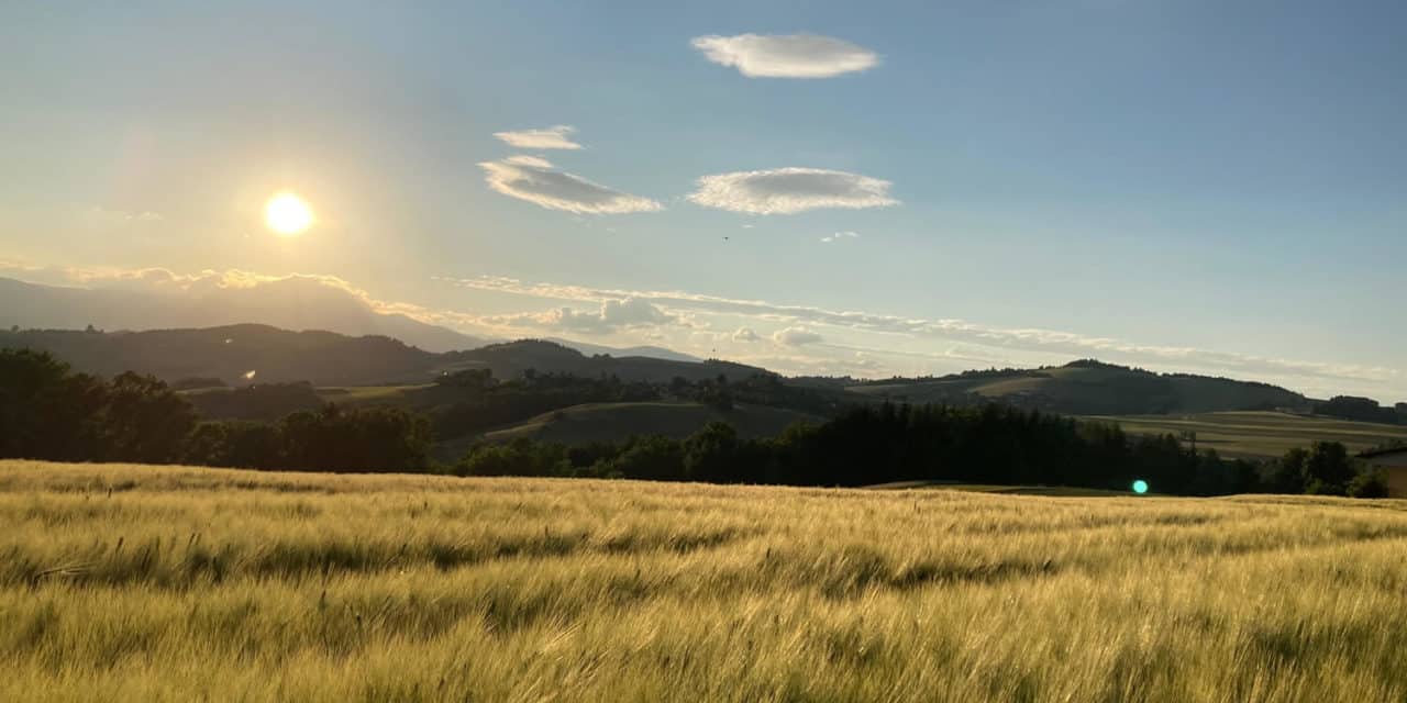
<instances>
[{"instance_id":1,"label":"golden grain field filling the whole foreground","mask_svg":"<svg viewBox=\"0 0 1407 703\"><path fill-rule=\"evenodd\" d=\"M1407 502L0 463L0 700L1404 700Z\"/></svg>"}]
</instances>

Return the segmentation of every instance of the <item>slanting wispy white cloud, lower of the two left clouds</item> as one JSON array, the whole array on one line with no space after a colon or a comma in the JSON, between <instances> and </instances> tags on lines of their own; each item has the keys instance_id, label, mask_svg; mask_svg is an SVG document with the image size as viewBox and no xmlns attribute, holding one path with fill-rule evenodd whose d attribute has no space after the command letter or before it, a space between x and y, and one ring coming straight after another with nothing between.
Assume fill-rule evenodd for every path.
<instances>
[{"instance_id":1,"label":"slanting wispy white cloud, lower of the two left clouds","mask_svg":"<svg viewBox=\"0 0 1407 703\"><path fill-rule=\"evenodd\" d=\"M478 166L484 169L484 180L490 188L547 209L588 215L664 209L664 205L650 198L620 193L581 176L560 172L546 159L536 156L509 156Z\"/></svg>"}]
</instances>

